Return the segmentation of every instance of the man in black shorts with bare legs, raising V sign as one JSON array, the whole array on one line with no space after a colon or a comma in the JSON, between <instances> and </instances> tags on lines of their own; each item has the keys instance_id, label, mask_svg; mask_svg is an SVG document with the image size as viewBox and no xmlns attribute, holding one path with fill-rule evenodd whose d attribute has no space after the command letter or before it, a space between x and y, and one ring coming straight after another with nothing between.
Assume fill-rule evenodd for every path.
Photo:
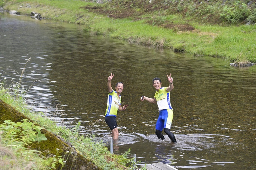
<instances>
[{"instance_id":1,"label":"man in black shorts with bare legs, raising V sign","mask_svg":"<svg viewBox=\"0 0 256 170\"><path fill-rule=\"evenodd\" d=\"M105 113L105 120L108 124L112 134L111 136L113 139L117 139L119 136L118 130L117 130L117 123L116 123L116 115L117 110L124 111L126 109L127 105L123 105L121 107L121 93L123 91L123 83L118 82L115 86L115 91L111 87L111 80L114 77L114 74L108 77L108 104L107 109Z\"/></svg>"}]
</instances>

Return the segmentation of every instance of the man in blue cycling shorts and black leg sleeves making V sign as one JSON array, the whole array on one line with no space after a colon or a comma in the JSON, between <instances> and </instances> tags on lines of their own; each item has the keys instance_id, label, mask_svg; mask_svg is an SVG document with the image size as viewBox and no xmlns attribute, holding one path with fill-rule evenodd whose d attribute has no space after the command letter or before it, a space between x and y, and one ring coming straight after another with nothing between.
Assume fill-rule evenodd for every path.
<instances>
[{"instance_id":1,"label":"man in blue cycling shorts and black leg sleeves making V sign","mask_svg":"<svg viewBox=\"0 0 256 170\"><path fill-rule=\"evenodd\" d=\"M170 131L171 122L173 121L173 108L170 102L170 91L173 90L173 77L168 76L169 86L161 87L161 80L156 77L153 79L153 86L156 89L154 98L146 96L141 97L141 101L148 101L149 103L157 103L159 108L159 117L156 121L156 136L158 139L164 139L162 130L168 135L172 142L177 142L174 134Z\"/></svg>"}]
</instances>

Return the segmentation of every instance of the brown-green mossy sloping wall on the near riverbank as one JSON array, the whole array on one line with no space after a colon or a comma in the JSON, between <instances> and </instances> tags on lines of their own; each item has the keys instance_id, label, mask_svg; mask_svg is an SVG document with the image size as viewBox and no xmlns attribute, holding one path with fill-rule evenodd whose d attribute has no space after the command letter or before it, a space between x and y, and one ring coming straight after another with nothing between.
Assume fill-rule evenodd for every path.
<instances>
[{"instance_id":1,"label":"brown-green mossy sloping wall on the near riverbank","mask_svg":"<svg viewBox=\"0 0 256 170\"><path fill-rule=\"evenodd\" d=\"M24 114L15 110L12 106L6 104L0 99L0 123L4 123L5 120L11 120L15 123L22 121L23 119L28 119L33 122L30 118L26 117ZM38 124L35 124L38 125ZM40 126L40 125L38 125ZM54 154L56 156L65 157L66 160L65 167L59 163L56 165L56 169L63 170L101 170L94 163L90 162L86 157L81 155L75 148L69 143L65 142L60 136L55 136L53 133L47 131L46 129L41 130L42 134L45 134L47 140L41 142L35 142L29 146L33 150L39 150L45 153L46 156L49 154ZM59 150L57 150L57 148ZM67 151L69 151L67 153ZM61 168L62 167L62 168Z\"/></svg>"}]
</instances>

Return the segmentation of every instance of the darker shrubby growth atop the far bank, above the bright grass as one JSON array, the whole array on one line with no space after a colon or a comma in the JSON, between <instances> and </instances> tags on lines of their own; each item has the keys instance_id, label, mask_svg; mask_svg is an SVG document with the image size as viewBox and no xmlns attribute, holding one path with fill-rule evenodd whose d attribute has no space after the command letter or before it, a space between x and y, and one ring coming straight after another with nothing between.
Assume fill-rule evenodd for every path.
<instances>
[{"instance_id":1,"label":"darker shrubby growth atop the far bank, above the bright grass","mask_svg":"<svg viewBox=\"0 0 256 170\"><path fill-rule=\"evenodd\" d=\"M244 21L251 16L251 10L255 6L253 2L252 5L247 5L245 0L152 0L151 3L148 0L112 0L106 1L103 4L104 8L88 7L88 9L100 14L110 15L113 18L136 17L156 11L162 12L159 16L180 13L186 17L193 16L204 22L211 23L238 23Z\"/></svg>"}]
</instances>

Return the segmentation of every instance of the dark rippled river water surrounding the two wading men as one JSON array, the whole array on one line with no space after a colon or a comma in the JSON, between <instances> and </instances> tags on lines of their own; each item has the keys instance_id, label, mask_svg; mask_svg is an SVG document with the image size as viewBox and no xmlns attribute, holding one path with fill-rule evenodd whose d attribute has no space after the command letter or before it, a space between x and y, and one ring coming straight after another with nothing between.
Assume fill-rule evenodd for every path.
<instances>
[{"instance_id":1,"label":"dark rippled river water surrounding the two wading men","mask_svg":"<svg viewBox=\"0 0 256 170\"><path fill-rule=\"evenodd\" d=\"M256 169L256 66L231 67L218 58L151 49L80 31L75 24L0 14L0 82L28 89L34 111L73 127L109 147L105 123L107 78L124 83L114 153L131 148L140 164L163 162L177 169ZM27 60L31 58L30 61ZM26 64L27 62L27 64ZM174 79L171 131L177 143L155 135L157 104L152 79ZM103 121L104 120L104 121Z\"/></svg>"}]
</instances>

